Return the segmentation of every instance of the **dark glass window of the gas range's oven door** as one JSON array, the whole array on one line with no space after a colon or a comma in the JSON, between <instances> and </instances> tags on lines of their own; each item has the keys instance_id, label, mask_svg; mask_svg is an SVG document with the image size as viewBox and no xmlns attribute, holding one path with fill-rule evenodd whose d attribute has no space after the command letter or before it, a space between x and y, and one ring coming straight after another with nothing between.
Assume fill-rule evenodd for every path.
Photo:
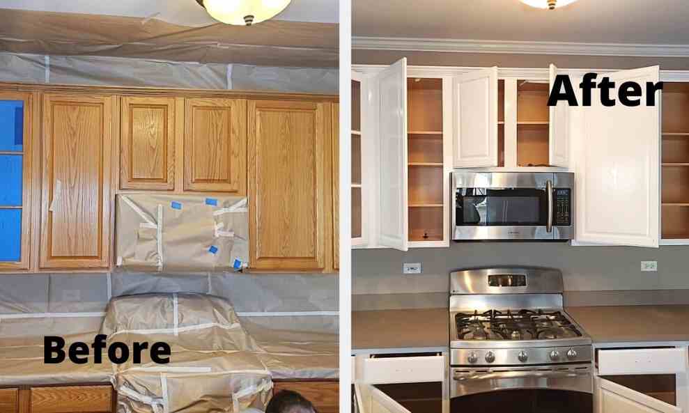
<instances>
[{"instance_id":1,"label":"dark glass window of the gas range's oven door","mask_svg":"<svg viewBox=\"0 0 689 413\"><path fill-rule=\"evenodd\" d=\"M478 410L477 410L478 409ZM452 398L450 413L593 413L590 393L553 389L500 390Z\"/></svg>"}]
</instances>

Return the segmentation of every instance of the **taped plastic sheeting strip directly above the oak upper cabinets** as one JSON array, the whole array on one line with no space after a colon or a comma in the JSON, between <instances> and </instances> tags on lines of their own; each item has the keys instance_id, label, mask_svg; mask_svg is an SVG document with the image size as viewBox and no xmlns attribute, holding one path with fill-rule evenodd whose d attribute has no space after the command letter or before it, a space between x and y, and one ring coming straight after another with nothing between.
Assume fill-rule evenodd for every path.
<instances>
[{"instance_id":1,"label":"taped plastic sheeting strip directly above the oak upper cabinets","mask_svg":"<svg viewBox=\"0 0 689 413\"><path fill-rule=\"evenodd\" d=\"M338 70L0 52L0 81L337 93Z\"/></svg>"}]
</instances>

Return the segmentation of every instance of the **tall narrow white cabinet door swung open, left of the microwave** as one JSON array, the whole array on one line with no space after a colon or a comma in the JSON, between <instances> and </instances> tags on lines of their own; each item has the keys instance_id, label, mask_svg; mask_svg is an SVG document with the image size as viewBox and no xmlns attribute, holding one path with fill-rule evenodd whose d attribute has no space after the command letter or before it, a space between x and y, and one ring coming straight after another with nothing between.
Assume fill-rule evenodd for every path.
<instances>
[{"instance_id":1,"label":"tall narrow white cabinet door swung open, left of the microwave","mask_svg":"<svg viewBox=\"0 0 689 413\"><path fill-rule=\"evenodd\" d=\"M378 90L380 141L378 243L407 251L407 59L378 73L372 86Z\"/></svg>"}]
</instances>

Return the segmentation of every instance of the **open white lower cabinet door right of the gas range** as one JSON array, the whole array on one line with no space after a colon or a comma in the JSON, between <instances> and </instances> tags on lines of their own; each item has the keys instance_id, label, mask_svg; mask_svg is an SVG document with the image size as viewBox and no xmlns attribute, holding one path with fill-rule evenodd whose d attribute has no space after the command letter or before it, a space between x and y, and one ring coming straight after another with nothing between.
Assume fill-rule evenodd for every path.
<instances>
[{"instance_id":1,"label":"open white lower cabinet door right of the gas range","mask_svg":"<svg viewBox=\"0 0 689 413\"><path fill-rule=\"evenodd\" d=\"M681 413L679 407L644 393L596 377L598 381L597 413Z\"/></svg>"}]
</instances>

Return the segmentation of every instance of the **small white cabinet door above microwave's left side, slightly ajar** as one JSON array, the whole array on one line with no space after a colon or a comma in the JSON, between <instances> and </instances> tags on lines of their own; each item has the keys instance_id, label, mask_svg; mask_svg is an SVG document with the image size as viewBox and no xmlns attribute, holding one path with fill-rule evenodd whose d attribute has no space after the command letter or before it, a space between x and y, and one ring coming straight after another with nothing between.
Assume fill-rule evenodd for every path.
<instances>
[{"instance_id":1,"label":"small white cabinet door above microwave's left side, slightly ajar","mask_svg":"<svg viewBox=\"0 0 689 413\"><path fill-rule=\"evenodd\" d=\"M497 67L453 79L454 167L497 166Z\"/></svg>"}]
</instances>

